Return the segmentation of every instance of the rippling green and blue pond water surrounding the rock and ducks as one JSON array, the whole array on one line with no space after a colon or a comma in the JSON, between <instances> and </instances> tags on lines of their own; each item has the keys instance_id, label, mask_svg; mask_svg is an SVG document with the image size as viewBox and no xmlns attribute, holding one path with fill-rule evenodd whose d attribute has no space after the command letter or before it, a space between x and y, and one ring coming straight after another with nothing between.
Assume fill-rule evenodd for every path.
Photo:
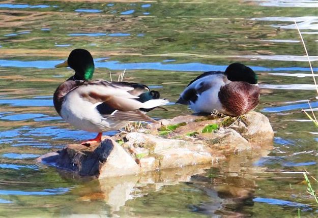
<instances>
[{"instance_id":1,"label":"rippling green and blue pond water surrounding the rock and ducks","mask_svg":"<svg viewBox=\"0 0 318 218\"><path fill-rule=\"evenodd\" d=\"M0 214L4 217L317 216L302 172L317 175L318 130L301 112L315 87L317 1L6 1L0 4ZM226 163L91 180L36 164L39 155L92 138L52 107L72 74L55 69L74 48L92 52L95 78L126 70L175 102L203 71L240 61L258 74L257 111L273 146ZM317 103L311 103L317 110ZM189 114L167 106L153 117ZM114 132L105 133L114 134ZM318 177L318 176L316 176ZM314 187L316 185L314 184Z\"/></svg>"}]
</instances>

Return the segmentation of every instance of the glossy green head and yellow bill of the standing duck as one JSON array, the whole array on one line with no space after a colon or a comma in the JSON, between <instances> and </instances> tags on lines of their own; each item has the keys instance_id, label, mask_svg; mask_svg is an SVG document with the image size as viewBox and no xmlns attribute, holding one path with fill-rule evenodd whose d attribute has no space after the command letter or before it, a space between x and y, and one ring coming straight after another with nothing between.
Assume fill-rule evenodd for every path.
<instances>
[{"instance_id":1,"label":"glossy green head and yellow bill of the standing duck","mask_svg":"<svg viewBox=\"0 0 318 218\"><path fill-rule=\"evenodd\" d=\"M70 67L75 71L74 79L86 81L93 78L95 69L91 53L88 50L80 48L71 51L68 59L64 63L56 65L55 67Z\"/></svg>"}]
</instances>

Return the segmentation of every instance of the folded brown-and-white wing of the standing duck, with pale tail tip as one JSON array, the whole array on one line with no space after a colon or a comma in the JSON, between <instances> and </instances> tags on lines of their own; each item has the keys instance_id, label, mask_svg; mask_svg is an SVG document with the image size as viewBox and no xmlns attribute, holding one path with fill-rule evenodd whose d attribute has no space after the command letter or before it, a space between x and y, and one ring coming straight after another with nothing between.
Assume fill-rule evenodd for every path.
<instances>
[{"instance_id":1,"label":"folded brown-and-white wing of the standing duck, with pale tail tip","mask_svg":"<svg viewBox=\"0 0 318 218\"><path fill-rule=\"evenodd\" d=\"M168 103L164 99L140 101L135 95L145 93L143 91L149 92L149 88L137 83L98 80L85 83L75 90L80 98L91 102L104 118L154 122L155 120L139 109L151 109Z\"/></svg>"}]
</instances>

